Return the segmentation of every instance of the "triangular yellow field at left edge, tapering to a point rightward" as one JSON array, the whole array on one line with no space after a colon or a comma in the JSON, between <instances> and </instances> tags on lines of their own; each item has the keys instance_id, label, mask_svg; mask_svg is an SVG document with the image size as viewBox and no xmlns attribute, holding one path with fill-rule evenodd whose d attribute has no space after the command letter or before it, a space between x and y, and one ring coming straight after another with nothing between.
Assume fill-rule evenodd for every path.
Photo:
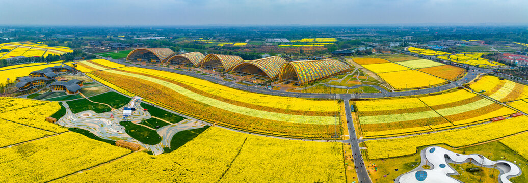
<instances>
[{"instance_id":1,"label":"triangular yellow field at left edge, tapering to a point rightward","mask_svg":"<svg viewBox=\"0 0 528 183\"><path fill-rule=\"evenodd\" d=\"M0 148L54 134L0 119Z\"/></svg>"}]
</instances>

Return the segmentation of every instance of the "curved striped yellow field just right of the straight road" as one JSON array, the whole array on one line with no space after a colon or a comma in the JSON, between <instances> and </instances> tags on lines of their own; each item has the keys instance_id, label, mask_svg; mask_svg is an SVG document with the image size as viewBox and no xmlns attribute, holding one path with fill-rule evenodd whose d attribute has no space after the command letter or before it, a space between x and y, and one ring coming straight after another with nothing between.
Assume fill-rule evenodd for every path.
<instances>
[{"instance_id":1,"label":"curved striped yellow field just right of the straight road","mask_svg":"<svg viewBox=\"0 0 528 183\"><path fill-rule=\"evenodd\" d=\"M363 136L429 132L516 113L503 105L466 91L395 99L354 101Z\"/></svg>"}]
</instances>

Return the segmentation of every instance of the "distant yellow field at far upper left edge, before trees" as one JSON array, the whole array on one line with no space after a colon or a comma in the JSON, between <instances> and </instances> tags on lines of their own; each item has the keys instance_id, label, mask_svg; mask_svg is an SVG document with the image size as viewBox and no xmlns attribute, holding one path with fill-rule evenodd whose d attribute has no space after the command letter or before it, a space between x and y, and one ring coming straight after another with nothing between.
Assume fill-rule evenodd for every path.
<instances>
[{"instance_id":1,"label":"distant yellow field at far upper left edge, before trees","mask_svg":"<svg viewBox=\"0 0 528 183\"><path fill-rule=\"evenodd\" d=\"M31 42L12 42L0 44L0 50L7 49L10 52L0 55L0 59L8 59L11 57L25 56L25 57L40 57L48 55L62 55L71 53L73 50L68 47L53 47L43 44L36 44Z\"/></svg>"}]
</instances>

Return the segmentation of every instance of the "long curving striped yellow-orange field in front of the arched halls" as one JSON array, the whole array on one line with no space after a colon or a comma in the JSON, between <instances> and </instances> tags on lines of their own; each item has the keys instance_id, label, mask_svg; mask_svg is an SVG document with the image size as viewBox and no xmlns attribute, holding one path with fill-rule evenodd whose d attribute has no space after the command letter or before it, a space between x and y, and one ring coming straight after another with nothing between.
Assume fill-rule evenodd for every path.
<instances>
[{"instance_id":1,"label":"long curving striped yellow-orange field in front of the arched halls","mask_svg":"<svg viewBox=\"0 0 528 183\"><path fill-rule=\"evenodd\" d=\"M248 93L176 73L141 68L98 71L93 75L118 91L126 90L125 93L139 95L167 109L232 128L280 136L329 138L335 130L326 132L327 129L339 128L340 124L339 118L334 117L340 110L334 100Z\"/></svg>"}]
</instances>

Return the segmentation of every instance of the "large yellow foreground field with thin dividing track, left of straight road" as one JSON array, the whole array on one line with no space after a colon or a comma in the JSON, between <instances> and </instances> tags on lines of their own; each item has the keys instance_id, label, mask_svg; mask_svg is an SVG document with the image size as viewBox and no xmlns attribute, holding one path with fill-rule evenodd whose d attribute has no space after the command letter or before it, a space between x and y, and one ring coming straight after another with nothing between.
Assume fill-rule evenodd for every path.
<instances>
[{"instance_id":1,"label":"large yellow foreground field with thin dividing track, left of straight road","mask_svg":"<svg viewBox=\"0 0 528 183\"><path fill-rule=\"evenodd\" d=\"M344 182L342 153L340 142L281 140L211 127L171 153L135 152L57 182Z\"/></svg>"}]
</instances>

